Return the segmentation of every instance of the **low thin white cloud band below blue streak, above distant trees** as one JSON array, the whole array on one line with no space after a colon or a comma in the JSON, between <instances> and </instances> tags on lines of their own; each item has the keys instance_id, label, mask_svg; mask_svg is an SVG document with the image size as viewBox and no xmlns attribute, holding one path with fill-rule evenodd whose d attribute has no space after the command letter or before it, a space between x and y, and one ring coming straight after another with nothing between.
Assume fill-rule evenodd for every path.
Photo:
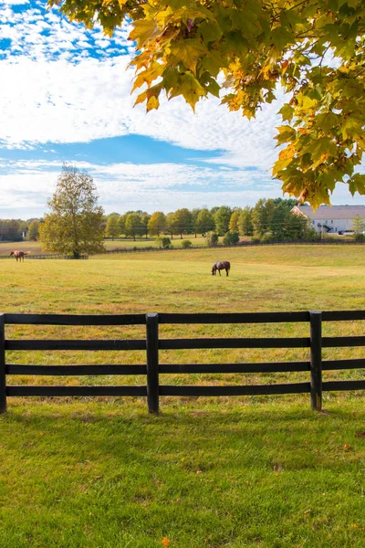
<instances>
[{"instance_id":1,"label":"low thin white cloud band below blue streak, above distant trees","mask_svg":"<svg viewBox=\"0 0 365 548\"><path fill-rule=\"evenodd\" d=\"M263 174L219 170L177 163L98 165L76 163L97 184L99 201L107 212L145 209L165 212L202 205L254 205L266 187L266 197L280 195L280 185L262 182ZM7 163L13 174L0 175L0 217L40 216L47 210L61 163L22 161ZM256 183L255 190L252 189Z\"/></svg>"}]
</instances>

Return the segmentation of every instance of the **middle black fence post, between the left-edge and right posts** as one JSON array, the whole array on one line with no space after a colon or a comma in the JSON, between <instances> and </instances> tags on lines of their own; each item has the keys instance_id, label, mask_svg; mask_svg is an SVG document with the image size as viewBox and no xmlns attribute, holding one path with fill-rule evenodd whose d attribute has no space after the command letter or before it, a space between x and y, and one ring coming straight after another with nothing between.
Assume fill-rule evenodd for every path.
<instances>
[{"instance_id":1,"label":"middle black fence post, between the left-edge and right posts","mask_svg":"<svg viewBox=\"0 0 365 548\"><path fill-rule=\"evenodd\" d=\"M147 405L150 413L159 412L159 315L146 314Z\"/></svg>"}]
</instances>

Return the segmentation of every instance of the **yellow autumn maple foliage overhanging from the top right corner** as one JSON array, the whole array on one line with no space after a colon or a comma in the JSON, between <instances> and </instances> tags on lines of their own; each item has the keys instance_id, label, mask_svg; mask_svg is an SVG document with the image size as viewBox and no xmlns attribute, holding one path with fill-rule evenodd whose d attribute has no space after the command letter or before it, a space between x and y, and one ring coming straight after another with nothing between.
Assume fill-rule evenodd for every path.
<instances>
[{"instance_id":1,"label":"yellow autumn maple foliage overhanging from the top right corner","mask_svg":"<svg viewBox=\"0 0 365 548\"><path fill-rule=\"evenodd\" d=\"M286 92L273 174L317 207L338 182L365 194L365 10L362 0L49 0L111 35L125 18L136 42L136 102L221 95L250 119ZM224 81L222 81L222 76Z\"/></svg>"}]
</instances>

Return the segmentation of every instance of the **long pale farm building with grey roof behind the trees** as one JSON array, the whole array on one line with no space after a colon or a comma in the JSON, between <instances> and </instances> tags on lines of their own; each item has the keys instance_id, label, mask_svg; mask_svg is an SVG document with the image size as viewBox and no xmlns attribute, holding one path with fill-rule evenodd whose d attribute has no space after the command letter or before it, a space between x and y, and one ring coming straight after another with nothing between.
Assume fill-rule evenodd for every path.
<instances>
[{"instance_id":1,"label":"long pale farm building with grey roof behind the trees","mask_svg":"<svg viewBox=\"0 0 365 548\"><path fill-rule=\"evenodd\" d=\"M295 205L291 211L306 216L316 232L350 231L355 216L365 218L365 205L320 205L316 211L310 205Z\"/></svg>"}]
</instances>

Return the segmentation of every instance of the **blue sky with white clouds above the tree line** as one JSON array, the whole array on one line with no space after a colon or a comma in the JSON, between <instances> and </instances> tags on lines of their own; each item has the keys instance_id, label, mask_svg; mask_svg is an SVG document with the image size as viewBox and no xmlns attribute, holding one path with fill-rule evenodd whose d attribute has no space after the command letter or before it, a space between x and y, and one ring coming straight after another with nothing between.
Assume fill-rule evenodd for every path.
<instances>
[{"instance_id":1,"label":"blue sky with white clouds above the tree line","mask_svg":"<svg viewBox=\"0 0 365 548\"><path fill-rule=\"evenodd\" d=\"M147 114L130 95L129 32L107 38L44 1L0 0L0 218L47 213L65 162L89 172L107 214L283 196L270 176L282 97L252 121L215 98L195 114L181 98ZM339 184L332 203L365 197Z\"/></svg>"}]
</instances>

